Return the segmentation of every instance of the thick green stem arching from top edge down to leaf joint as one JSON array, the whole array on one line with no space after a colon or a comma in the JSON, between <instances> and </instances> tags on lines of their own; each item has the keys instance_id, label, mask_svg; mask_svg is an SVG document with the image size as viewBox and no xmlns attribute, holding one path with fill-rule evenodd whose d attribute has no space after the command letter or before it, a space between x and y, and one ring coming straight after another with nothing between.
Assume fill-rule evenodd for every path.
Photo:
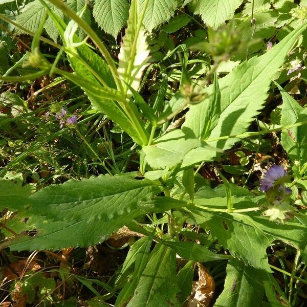
<instances>
[{"instance_id":1,"label":"thick green stem arching from top edge down to leaf joint","mask_svg":"<svg viewBox=\"0 0 307 307\"><path fill-rule=\"evenodd\" d=\"M123 86L120 82L119 75L116 69L116 65L114 60L109 54L108 50L104 46L104 43L100 40L99 36L93 31L93 29L81 18L79 17L73 10L71 10L67 5L65 5L61 0L50 0L50 2L59 8L63 13L69 16L71 19L75 20L76 23L90 36L93 42L98 47L100 53L105 58L105 61L109 65L109 69L112 72L115 83L117 85L117 89L123 93Z\"/></svg>"}]
</instances>

